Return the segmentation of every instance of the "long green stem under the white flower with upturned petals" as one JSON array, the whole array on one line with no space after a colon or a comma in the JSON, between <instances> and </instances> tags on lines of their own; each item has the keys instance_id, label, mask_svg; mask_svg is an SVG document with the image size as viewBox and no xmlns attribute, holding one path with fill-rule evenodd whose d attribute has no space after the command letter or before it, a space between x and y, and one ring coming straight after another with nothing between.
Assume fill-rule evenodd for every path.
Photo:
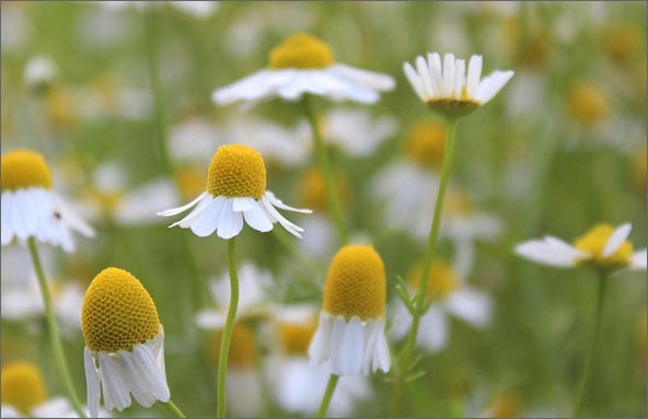
<instances>
[{"instance_id":1,"label":"long green stem under the white flower with upturned petals","mask_svg":"<svg viewBox=\"0 0 648 419\"><path fill-rule=\"evenodd\" d=\"M450 178L450 171L452 167L452 155L454 154L454 139L456 137L456 127L459 125L458 118L448 119L448 141L445 142L445 153L443 155L443 168L441 171L441 181L439 184L439 190L437 191L437 201L435 203L435 214L432 218L432 226L430 229L430 235L428 237L428 246L426 248L425 258L423 263L423 278L420 281L419 304L417 311L412 318L412 327L407 335L407 341L403 348L402 365L398 371L398 376L395 380L394 398L392 403L392 412L396 414L403 396L403 386L405 384L406 375L409 373L409 362L412 354L414 353L414 347L416 345L416 338L418 336L418 326L420 324L420 317L425 314L420 310L426 303L425 295L428 289L428 277L430 268L432 267L432 258L435 256L435 249L437 245L437 238L439 237L439 230L441 228L441 214L443 213L443 200L445 199L445 189L448 187L448 179Z\"/></svg>"}]
</instances>

